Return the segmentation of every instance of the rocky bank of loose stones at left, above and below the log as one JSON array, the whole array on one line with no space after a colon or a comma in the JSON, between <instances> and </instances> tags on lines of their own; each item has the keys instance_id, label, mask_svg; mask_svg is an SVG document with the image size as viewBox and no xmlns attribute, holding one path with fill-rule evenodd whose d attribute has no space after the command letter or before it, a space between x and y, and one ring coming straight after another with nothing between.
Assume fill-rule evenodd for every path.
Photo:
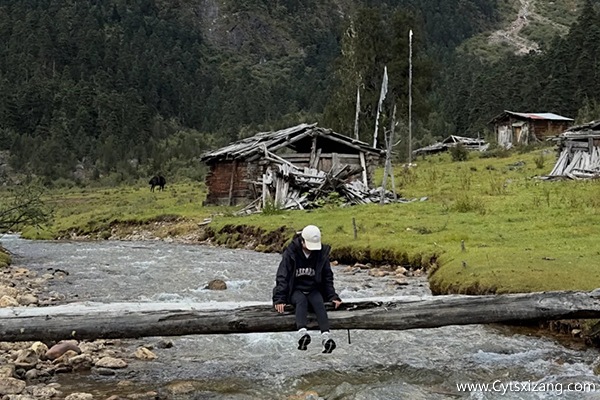
<instances>
[{"instance_id":1,"label":"rocky bank of loose stones at left, above and below the log","mask_svg":"<svg viewBox=\"0 0 600 400\"><path fill-rule=\"evenodd\" d=\"M64 299L58 293L48 292L47 284L63 279L65 271L48 271L38 276L34 271L10 265L0 268L0 307L43 307L58 304ZM158 344L168 346L167 344ZM150 346L149 346L150 347ZM152 360L156 356L148 347L139 347L133 353L120 346L118 340L78 342L0 342L0 399L90 400L90 393L70 393L63 396L57 374L89 371L98 375L115 375L128 366L130 360ZM127 381L119 383L127 386ZM127 399L156 399L156 392L130 393ZM110 396L107 400L121 397Z\"/></svg>"}]
</instances>

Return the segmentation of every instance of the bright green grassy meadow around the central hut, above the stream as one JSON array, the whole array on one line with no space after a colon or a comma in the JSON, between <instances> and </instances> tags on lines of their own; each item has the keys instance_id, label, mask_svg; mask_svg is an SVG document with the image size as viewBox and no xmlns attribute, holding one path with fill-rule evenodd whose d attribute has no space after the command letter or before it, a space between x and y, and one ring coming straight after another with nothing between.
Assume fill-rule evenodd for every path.
<instances>
[{"instance_id":1,"label":"bright green grassy meadow around the central hut, above the stream","mask_svg":"<svg viewBox=\"0 0 600 400\"><path fill-rule=\"evenodd\" d=\"M600 287L600 182L544 181L556 155L552 149L506 157L452 162L449 154L419 159L410 169L397 167L397 191L408 204L312 211L272 211L244 217L234 208L202 207L198 183L169 185L151 193L147 185L116 189L53 192L55 222L48 230L25 230L33 238L56 237L76 230L105 232L116 221L140 224L187 223L164 235L200 229L211 217L211 230L247 225L286 232L319 225L324 241L346 261L374 261L430 268L436 293L507 293L540 290L589 290ZM356 221L357 238L353 223Z\"/></svg>"}]
</instances>

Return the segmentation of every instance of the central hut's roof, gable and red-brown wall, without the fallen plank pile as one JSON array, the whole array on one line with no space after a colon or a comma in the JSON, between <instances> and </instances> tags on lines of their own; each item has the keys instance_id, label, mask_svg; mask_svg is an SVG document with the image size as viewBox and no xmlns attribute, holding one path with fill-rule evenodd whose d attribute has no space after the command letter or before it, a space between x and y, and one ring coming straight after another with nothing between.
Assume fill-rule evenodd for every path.
<instances>
[{"instance_id":1,"label":"central hut's roof, gable and red-brown wall, without the fallen plank pile","mask_svg":"<svg viewBox=\"0 0 600 400\"><path fill-rule=\"evenodd\" d=\"M276 165L307 171L353 167L353 177L369 187L382 151L317 124L301 124L274 132L261 132L202 157L209 167L204 204L240 205L262 193L263 176Z\"/></svg>"}]
</instances>

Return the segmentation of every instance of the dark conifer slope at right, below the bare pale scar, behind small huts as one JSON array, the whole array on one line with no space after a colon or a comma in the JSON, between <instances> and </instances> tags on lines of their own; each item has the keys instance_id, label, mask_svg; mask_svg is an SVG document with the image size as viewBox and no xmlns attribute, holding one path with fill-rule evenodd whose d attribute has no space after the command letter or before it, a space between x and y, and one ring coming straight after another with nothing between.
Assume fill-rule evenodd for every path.
<instances>
[{"instance_id":1,"label":"dark conifer slope at right, below the bare pale scar, behind small huts","mask_svg":"<svg viewBox=\"0 0 600 400\"><path fill-rule=\"evenodd\" d=\"M569 32L542 51L492 61L456 53L440 81L446 129L473 136L505 109L600 118L600 14L597 2L581 4Z\"/></svg>"}]
</instances>

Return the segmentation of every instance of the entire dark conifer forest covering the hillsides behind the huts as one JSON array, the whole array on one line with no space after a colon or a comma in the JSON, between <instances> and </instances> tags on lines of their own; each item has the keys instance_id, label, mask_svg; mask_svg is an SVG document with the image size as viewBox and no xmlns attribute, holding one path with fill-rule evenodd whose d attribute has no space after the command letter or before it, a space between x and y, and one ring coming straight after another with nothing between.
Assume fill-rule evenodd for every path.
<instances>
[{"instance_id":1,"label":"entire dark conifer forest covering the hillsides behind the huts","mask_svg":"<svg viewBox=\"0 0 600 400\"><path fill-rule=\"evenodd\" d=\"M357 87L370 141L384 66L382 122L396 104L405 125L409 29L423 142L504 108L573 115L599 93L585 15L546 52L490 62L456 48L499 28L497 0L5 0L0 163L48 183L200 178L201 153L258 130L350 134Z\"/></svg>"}]
</instances>

